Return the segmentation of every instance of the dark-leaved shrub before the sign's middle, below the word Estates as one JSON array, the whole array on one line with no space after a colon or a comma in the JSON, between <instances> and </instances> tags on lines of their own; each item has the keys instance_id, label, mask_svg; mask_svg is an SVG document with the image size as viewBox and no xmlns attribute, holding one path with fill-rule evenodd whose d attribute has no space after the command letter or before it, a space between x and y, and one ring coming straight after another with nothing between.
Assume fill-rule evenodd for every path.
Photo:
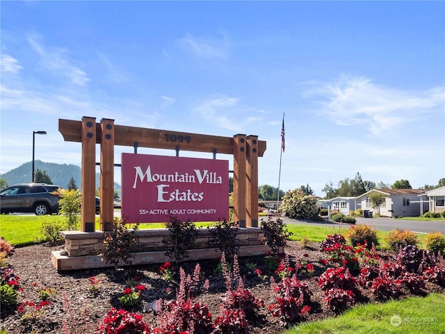
<instances>
[{"instance_id":1,"label":"dark-leaved shrub before the sign's middle, below the word Estates","mask_svg":"<svg viewBox=\"0 0 445 334\"><path fill-rule=\"evenodd\" d=\"M197 229L190 219L183 222L174 216L170 216L170 221L165 223L165 228L168 228L170 232L170 239L163 240L163 244L167 246L165 255L179 264L188 257L188 250L195 247Z\"/></svg>"}]
</instances>

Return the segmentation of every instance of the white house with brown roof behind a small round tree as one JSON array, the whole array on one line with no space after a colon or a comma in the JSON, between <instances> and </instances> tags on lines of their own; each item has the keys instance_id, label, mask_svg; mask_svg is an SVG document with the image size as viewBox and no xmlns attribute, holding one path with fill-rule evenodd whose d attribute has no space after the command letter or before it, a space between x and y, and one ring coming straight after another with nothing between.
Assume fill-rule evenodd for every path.
<instances>
[{"instance_id":1,"label":"white house with brown roof behind a small round tree","mask_svg":"<svg viewBox=\"0 0 445 334\"><path fill-rule=\"evenodd\" d=\"M378 208L380 216L398 217L398 216L421 216L423 212L428 211L428 202L419 200L419 196L425 196L425 191L418 189L373 189L367 191L361 196L357 196L357 201L361 202L363 210L375 211L373 209L369 195L373 192L382 193L385 200ZM442 199L444 197L442 196ZM443 202L442 202L443 205ZM377 213L377 212L374 212Z\"/></svg>"}]
</instances>

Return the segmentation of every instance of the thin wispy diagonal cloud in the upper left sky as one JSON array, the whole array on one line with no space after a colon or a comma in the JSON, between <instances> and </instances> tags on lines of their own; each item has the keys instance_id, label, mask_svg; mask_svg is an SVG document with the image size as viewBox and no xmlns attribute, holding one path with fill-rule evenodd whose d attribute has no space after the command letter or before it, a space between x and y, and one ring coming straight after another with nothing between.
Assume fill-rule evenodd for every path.
<instances>
[{"instance_id":1,"label":"thin wispy diagonal cloud in the upper left sky","mask_svg":"<svg viewBox=\"0 0 445 334\"><path fill-rule=\"evenodd\" d=\"M65 49L56 47L45 49L36 38L29 38L28 40L33 49L40 54L41 65L45 70L49 70L56 75L62 74L64 77L67 77L72 84L78 86L85 86L87 82L90 81L86 72L72 65L72 63L67 60L67 51Z\"/></svg>"}]
</instances>

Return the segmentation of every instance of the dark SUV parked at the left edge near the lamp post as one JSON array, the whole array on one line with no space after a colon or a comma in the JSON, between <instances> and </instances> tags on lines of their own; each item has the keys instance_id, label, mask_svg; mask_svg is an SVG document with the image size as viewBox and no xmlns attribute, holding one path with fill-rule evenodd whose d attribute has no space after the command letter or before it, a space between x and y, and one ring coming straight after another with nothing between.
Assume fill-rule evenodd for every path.
<instances>
[{"instance_id":1,"label":"dark SUV parked at the left edge near the lamp post","mask_svg":"<svg viewBox=\"0 0 445 334\"><path fill-rule=\"evenodd\" d=\"M34 212L36 215L58 212L60 186L45 183L14 184L0 192L0 212Z\"/></svg>"}]
</instances>

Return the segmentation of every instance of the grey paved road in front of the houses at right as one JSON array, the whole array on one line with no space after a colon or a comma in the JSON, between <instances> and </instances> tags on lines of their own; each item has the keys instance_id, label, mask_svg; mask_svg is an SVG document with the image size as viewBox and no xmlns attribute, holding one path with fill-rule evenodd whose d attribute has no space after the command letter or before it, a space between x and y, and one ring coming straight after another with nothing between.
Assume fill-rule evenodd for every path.
<instances>
[{"instance_id":1,"label":"grey paved road in front of the houses at right","mask_svg":"<svg viewBox=\"0 0 445 334\"><path fill-rule=\"evenodd\" d=\"M307 221L298 221L296 219L291 219L287 217L284 218L284 223L286 224L303 224L303 225L324 225L332 226L338 225L338 223L309 223ZM356 217L357 225L371 225L374 226L376 230L391 231L396 228L401 230L411 230L413 232L419 233L429 233L429 232L442 232L445 234L445 221L405 221L403 219L394 218L362 218ZM343 226L348 224L343 224Z\"/></svg>"}]
</instances>

